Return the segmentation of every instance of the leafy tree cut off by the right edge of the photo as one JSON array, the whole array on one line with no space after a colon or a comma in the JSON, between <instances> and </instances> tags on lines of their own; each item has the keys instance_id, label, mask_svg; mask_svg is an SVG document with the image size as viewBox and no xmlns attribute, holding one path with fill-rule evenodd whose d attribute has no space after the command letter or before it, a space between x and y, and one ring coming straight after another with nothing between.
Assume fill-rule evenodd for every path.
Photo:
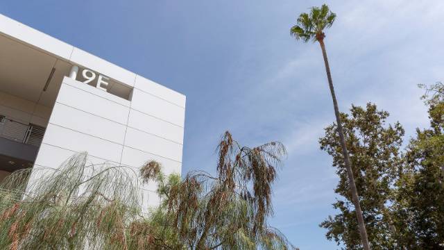
<instances>
[{"instance_id":1,"label":"leafy tree cut off by the right edge of the photo","mask_svg":"<svg viewBox=\"0 0 444 250\"><path fill-rule=\"evenodd\" d=\"M430 127L407 147L395 206L407 249L444 249L444 85L422 85Z\"/></svg>"}]
</instances>

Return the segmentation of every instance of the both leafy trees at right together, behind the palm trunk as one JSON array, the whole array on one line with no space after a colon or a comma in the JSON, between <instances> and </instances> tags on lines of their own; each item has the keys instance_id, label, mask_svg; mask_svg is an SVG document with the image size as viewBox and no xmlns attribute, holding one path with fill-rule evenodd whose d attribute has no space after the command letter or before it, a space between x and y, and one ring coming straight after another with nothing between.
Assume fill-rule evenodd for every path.
<instances>
[{"instance_id":1,"label":"both leafy trees at right together, behind the palm trunk","mask_svg":"<svg viewBox=\"0 0 444 250\"><path fill-rule=\"evenodd\" d=\"M444 249L444 85L420 87L426 91L422 99L430 126L417 128L404 149L402 126L385 125L388 113L374 104L342 114L373 249ZM339 175L335 192L340 197L333 204L339 213L320 226L327 229L327 239L361 249L335 126L325 128L320 144Z\"/></svg>"}]
</instances>

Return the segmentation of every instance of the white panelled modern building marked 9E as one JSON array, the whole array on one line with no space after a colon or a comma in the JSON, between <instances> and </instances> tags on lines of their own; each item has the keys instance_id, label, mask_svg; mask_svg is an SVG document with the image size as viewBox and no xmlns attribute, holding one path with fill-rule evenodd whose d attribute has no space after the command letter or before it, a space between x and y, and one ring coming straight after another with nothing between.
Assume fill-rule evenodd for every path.
<instances>
[{"instance_id":1,"label":"white panelled modern building marked 9E","mask_svg":"<svg viewBox=\"0 0 444 250\"><path fill-rule=\"evenodd\" d=\"M185 96L0 15L0 181L74 153L180 174ZM144 203L155 206L155 185Z\"/></svg>"}]
</instances>

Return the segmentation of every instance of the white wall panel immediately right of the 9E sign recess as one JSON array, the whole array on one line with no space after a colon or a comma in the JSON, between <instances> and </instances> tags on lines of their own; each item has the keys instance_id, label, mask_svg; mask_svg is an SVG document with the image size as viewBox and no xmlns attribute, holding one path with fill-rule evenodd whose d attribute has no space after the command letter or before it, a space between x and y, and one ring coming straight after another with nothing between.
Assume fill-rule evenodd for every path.
<instances>
[{"instance_id":1,"label":"white wall panel immediately right of the 9E sign recess","mask_svg":"<svg viewBox=\"0 0 444 250\"><path fill-rule=\"evenodd\" d=\"M185 108L138 89L133 90L131 108L163 119L178 126L184 126Z\"/></svg>"}]
</instances>

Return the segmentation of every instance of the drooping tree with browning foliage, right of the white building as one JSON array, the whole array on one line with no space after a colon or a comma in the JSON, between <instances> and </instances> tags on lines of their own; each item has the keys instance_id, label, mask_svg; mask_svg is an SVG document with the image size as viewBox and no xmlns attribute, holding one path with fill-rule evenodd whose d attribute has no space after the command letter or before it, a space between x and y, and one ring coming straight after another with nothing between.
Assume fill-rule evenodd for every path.
<instances>
[{"instance_id":1,"label":"drooping tree with browning foliage, right of the white building","mask_svg":"<svg viewBox=\"0 0 444 250\"><path fill-rule=\"evenodd\" d=\"M158 183L162 203L137 224L134 239L148 249L294 249L268 226L272 184L285 149L279 142L241 147L230 133L219 144L216 176L191 172L182 181L165 178L156 163L141 169Z\"/></svg>"}]
</instances>

